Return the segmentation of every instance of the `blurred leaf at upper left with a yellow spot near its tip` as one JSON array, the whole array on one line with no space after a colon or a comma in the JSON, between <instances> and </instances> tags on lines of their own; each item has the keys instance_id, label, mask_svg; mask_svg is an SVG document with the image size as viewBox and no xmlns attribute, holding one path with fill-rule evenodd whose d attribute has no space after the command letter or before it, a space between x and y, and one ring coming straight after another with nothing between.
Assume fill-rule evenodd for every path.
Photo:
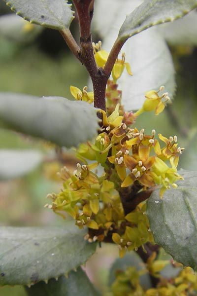
<instances>
[{"instance_id":1,"label":"blurred leaf at upper left with a yellow spot near its tip","mask_svg":"<svg viewBox=\"0 0 197 296\"><path fill-rule=\"evenodd\" d=\"M41 31L41 27L30 24L15 14L0 16L0 36L12 41L32 41Z\"/></svg>"}]
</instances>

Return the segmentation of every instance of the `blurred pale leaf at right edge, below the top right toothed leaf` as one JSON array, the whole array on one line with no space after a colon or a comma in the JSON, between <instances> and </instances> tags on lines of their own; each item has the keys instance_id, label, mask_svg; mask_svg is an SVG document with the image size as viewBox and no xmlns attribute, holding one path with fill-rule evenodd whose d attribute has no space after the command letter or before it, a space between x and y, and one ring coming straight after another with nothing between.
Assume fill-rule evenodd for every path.
<instances>
[{"instance_id":1,"label":"blurred pale leaf at right edge, below the top right toothed leaf","mask_svg":"<svg viewBox=\"0 0 197 296\"><path fill-rule=\"evenodd\" d=\"M171 24L159 26L158 29L170 45L197 46L197 12L195 10Z\"/></svg>"}]
</instances>

